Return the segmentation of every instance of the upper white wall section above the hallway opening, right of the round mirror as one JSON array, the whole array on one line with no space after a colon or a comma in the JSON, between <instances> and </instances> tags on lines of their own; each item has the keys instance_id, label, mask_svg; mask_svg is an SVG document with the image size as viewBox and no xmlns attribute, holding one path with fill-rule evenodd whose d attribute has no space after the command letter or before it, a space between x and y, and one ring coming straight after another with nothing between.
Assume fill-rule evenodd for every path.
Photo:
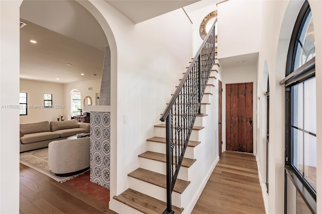
<instances>
[{"instance_id":1,"label":"upper white wall section above the hallway opening, right of the round mirror","mask_svg":"<svg viewBox=\"0 0 322 214\"><path fill-rule=\"evenodd\" d=\"M259 51L260 2L229 0L217 5L218 59Z\"/></svg>"}]
</instances>

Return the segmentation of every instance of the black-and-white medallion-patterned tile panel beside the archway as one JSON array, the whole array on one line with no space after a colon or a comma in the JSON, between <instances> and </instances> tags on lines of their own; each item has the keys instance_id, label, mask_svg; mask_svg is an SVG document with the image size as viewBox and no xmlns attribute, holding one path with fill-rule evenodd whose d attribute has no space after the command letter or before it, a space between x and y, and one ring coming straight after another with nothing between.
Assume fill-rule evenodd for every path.
<instances>
[{"instance_id":1,"label":"black-and-white medallion-patterned tile panel beside the archway","mask_svg":"<svg viewBox=\"0 0 322 214\"><path fill-rule=\"evenodd\" d=\"M111 113L91 112L91 181L110 189Z\"/></svg>"}]
</instances>

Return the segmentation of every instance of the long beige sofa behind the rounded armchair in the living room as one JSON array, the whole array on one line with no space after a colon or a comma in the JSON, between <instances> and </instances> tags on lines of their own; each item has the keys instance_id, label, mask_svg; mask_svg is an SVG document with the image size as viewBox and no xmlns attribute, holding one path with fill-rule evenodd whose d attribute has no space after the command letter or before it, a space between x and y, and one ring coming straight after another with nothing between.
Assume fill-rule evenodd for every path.
<instances>
[{"instance_id":1,"label":"long beige sofa behind the rounded armchair in the living room","mask_svg":"<svg viewBox=\"0 0 322 214\"><path fill-rule=\"evenodd\" d=\"M20 124L20 152L48 147L51 141L63 140L79 133L90 133L90 124L72 121L42 121Z\"/></svg>"}]
</instances>

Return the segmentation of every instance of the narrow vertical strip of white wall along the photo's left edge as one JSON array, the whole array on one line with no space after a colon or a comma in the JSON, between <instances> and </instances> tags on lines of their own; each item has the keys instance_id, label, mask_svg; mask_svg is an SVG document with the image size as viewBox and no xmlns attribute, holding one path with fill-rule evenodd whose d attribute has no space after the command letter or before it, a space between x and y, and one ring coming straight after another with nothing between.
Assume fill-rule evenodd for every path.
<instances>
[{"instance_id":1,"label":"narrow vertical strip of white wall along the photo's left edge","mask_svg":"<svg viewBox=\"0 0 322 214\"><path fill-rule=\"evenodd\" d=\"M19 104L19 7L0 1L0 105ZM19 213L19 110L0 109L0 213Z\"/></svg>"}]
</instances>

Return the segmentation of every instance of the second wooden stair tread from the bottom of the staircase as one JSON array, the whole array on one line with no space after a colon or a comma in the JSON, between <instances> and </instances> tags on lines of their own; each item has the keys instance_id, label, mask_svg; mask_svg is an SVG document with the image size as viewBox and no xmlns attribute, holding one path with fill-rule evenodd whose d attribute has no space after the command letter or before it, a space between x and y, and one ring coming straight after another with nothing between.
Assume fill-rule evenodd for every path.
<instances>
[{"instance_id":1,"label":"second wooden stair tread from the bottom of the staircase","mask_svg":"<svg viewBox=\"0 0 322 214\"><path fill-rule=\"evenodd\" d=\"M167 189L167 176L164 174L152 172L150 170L142 168L137 168L136 170L130 172L128 176ZM177 178L173 191L182 194L189 184L190 181L185 181Z\"/></svg>"}]
</instances>

